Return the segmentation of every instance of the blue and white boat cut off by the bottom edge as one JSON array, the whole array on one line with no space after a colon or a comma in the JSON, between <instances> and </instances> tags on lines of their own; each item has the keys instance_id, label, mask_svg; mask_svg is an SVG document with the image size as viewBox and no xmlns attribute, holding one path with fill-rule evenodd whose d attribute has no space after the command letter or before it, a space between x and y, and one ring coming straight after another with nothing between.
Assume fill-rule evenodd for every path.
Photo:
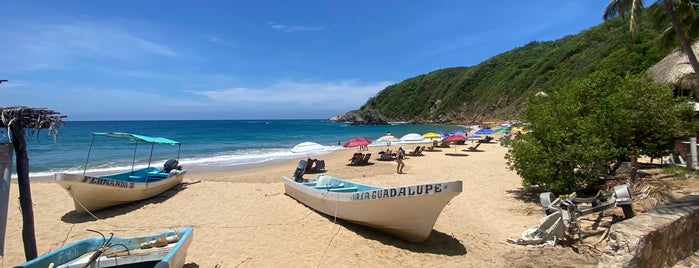
<instances>
[{"instance_id":1,"label":"blue and white boat cut off by the bottom edge","mask_svg":"<svg viewBox=\"0 0 699 268\"><path fill-rule=\"evenodd\" d=\"M100 233L100 237L73 242L15 267L182 267L193 232L193 227L182 227L137 237Z\"/></svg>"}]
</instances>

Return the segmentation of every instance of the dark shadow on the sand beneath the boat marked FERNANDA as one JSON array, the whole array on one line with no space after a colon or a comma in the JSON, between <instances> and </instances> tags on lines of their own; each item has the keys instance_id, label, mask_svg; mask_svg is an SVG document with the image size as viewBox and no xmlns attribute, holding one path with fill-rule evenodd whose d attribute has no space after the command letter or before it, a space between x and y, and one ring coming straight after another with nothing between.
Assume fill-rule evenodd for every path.
<instances>
[{"instance_id":1,"label":"dark shadow on the sand beneath the boat marked FERNANDA","mask_svg":"<svg viewBox=\"0 0 699 268\"><path fill-rule=\"evenodd\" d=\"M195 184L199 183L200 181L195 181L195 182L182 182L180 184L175 185L175 187L172 187L168 189L167 191L156 195L154 197L148 198L148 199L143 199L139 200L133 203L128 203L128 204L123 204L123 205L118 205L118 206L113 206L113 207L108 207L105 209L101 209L98 211L92 212L97 218L99 219L107 219L107 218L112 218L115 216L119 215L124 215L126 213L135 211L145 205L148 204L159 204L162 202L165 202L165 200L168 200L170 197L173 197L175 194L178 192L184 190L189 186L190 184ZM90 222L90 221L95 221L95 217L92 217L89 213L78 213L75 210L71 210L65 215L61 217L61 220L65 223L84 223L84 222Z\"/></svg>"}]
</instances>

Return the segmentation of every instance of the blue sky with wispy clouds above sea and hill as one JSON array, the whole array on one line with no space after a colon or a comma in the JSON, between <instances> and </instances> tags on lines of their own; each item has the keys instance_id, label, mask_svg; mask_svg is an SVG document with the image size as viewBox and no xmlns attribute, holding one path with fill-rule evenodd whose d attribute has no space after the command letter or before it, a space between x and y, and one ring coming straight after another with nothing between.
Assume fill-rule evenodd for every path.
<instances>
[{"instance_id":1,"label":"blue sky with wispy clouds above sea and hill","mask_svg":"<svg viewBox=\"0 0 699 268\"><path fill-rule=\"evenodd\" d=\"M405 79L577 34L607 2L0 0L0 107L328 118Z\"/></svg>"}]
</instances>

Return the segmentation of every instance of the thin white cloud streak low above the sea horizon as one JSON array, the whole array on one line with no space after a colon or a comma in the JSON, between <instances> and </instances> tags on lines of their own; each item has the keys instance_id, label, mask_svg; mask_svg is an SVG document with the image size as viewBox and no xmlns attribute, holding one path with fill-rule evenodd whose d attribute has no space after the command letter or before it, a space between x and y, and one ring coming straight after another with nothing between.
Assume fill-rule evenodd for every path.
<instances>
[{"instance_id":1,"label":"thin white cloud streak low above the sea horizon","mask_svg":"<svg viewBox=\"0 0 699 268\"><path fill-rule=\"evenodd\" d=\"M355 109L394 82L361 84L356 80L332 82L281 81L265 88L233 87L190 91L218 102L239 106L284 105L295 109Z\"/></svg>"}]
</instances>

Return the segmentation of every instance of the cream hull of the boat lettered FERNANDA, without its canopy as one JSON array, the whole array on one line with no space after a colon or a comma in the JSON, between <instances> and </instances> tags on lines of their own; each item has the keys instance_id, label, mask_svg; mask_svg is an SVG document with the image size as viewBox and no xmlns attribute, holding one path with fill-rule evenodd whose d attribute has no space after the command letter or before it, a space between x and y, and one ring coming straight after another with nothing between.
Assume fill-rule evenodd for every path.
<instances>
[{"instance_id":1,"label":"cream hull of the boat lettered FERNANDA, without its canopy","mask_svg":"<svg viewBox=\"0 0 699 268\"><path fill-rule=\"evenodd\" d=\"M75 211L85 213L159 195L182 182L186 170L168 178L139 182L89 175L57 173L58 183L73 198Z\"/></svg>"}]
</instances>

